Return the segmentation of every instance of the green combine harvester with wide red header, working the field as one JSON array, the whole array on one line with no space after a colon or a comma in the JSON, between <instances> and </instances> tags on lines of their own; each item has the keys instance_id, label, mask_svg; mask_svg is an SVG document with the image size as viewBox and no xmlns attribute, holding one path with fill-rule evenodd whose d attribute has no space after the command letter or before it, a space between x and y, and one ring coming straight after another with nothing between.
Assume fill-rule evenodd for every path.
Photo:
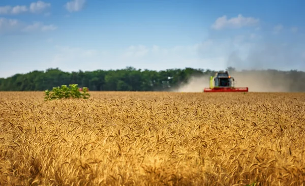
<instances>
[{"instance_id":1,"label":"green combine harvester with wide red header, working the field","mask_svg":"<svg viewBox=\"0 0 305 186\"><path fill-rule=\"evenodd\" d=\"M204 92L248 92L248 87L234 87L234 78L228 71L217 72L216 75L210 77L209 88L204 88Z\"/></svg>"}]
</instances>

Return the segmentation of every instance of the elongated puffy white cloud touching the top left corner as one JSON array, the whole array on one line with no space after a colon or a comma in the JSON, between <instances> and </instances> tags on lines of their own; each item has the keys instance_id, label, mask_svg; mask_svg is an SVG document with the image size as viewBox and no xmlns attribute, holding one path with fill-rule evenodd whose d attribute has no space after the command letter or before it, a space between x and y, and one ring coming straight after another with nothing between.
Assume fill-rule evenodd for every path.
<instances>
[{"instance_id":1,"label":"elongated puffy white cloud touching the top left corner","mask_svg":"<svg viewBox=\"0 0 305 186\"><path fill-rule=\"evenodd\" d=\"M17 6L3 6L0 7L0 14L22 14L26 12L31 12L31 13L41 13L45 9L49 8L51 6L50 3L45 3L43 1L38 1L36 3L31 3L29 7L24 6L24 5L17 5Z\"/></svg>"}]
</instances>

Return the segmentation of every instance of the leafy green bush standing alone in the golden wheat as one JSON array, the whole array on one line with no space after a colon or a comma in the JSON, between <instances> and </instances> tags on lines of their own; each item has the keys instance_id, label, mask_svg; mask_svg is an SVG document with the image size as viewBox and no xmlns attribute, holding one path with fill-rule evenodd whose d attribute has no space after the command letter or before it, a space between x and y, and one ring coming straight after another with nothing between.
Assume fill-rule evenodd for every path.
<instances>
[{"instance_id":1,"label":"leafy green bush standing alone in the golden wheat","mask_svg":"<svg viewBox=\"0 0 305 186\"><path fill-rule=\"evenodd\" d=\"M82 92L81 92L82 91ZM45 90L45 100L56 100L63 98L83 98L88 99L90 97L88 93L89 89L87 87L79 88L77 84L53 87L53 89Z\"/></svg>"}]
</instances>

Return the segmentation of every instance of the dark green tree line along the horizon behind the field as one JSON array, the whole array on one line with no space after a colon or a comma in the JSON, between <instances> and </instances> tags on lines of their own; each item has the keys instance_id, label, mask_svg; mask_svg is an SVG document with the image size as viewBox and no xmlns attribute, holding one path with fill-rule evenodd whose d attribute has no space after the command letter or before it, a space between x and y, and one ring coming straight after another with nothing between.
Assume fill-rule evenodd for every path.
<instances>
[{"instance_id":1,"label":"dark green tree line along the horizon behind the field","mask_svg":"<svg viewBox=\"0 0 305 186\"><path fill-rule=\"evenodd\" d=\"M260 77L265 75L274 84L281 83L283 79L289 80L289 91L305 91L305 72L295 70L236 71L231 67L227 70L238 76L259 73ZM215 73L214 70L193 68L153 71L133 67L108 71L83 72L80 70L69 73L58 68L51 68L46 71L33 71L0 78L0 91L42 91L69 84L78 84L79 87L88 87L93 91L169 91L188 83L191 77L209 77Z\"/></svg>"}]
</instances>

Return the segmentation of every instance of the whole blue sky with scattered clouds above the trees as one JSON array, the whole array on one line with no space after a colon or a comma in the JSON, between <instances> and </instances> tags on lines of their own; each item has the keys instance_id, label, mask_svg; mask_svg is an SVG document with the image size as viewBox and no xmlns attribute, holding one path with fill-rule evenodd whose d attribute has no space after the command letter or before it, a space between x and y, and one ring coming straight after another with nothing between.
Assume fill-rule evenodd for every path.
<instances>
[{"instance_id":1,"label":"whole blue sky with scattered clouds above the trees","mask_svg":"<svg viewBox=\"0 0 305 186\"><path fill-rule=\"evenodd\" d=\"M305 71L304 1L0 1L0 77L34 70Z\"/></svg>"}]
</instances>

